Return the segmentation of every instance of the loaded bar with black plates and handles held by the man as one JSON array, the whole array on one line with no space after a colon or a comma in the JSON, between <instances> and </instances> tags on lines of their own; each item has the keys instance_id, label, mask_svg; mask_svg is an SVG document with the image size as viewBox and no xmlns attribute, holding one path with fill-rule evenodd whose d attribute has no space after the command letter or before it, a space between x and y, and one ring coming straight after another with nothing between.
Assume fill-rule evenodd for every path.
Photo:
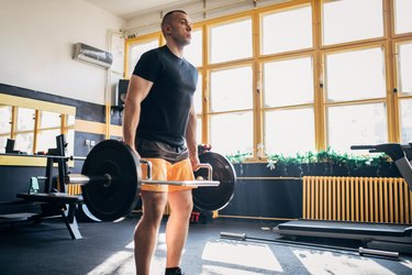
<instances>
[{"instance_id":1,"label":"loaded bar with black plates and handles held by the man","mask_svg":"<svg viewBox=\"0 0 412 275\"><path fill-rule=\"evenodd\" d=\"M129 215L138 202L142 185L190 186L194 188L192 196L197 209L220 210L233 197L236 183L233 165L214 152L202 153L199 160L202 168L194 172L194 178L205 180L155 180L152 179L149 162L140 160L124 142L105 140L87 155L81 174L68 174L65 184L80 184L86 206L94 217L104 221ZM146 179L142 179L141 163L147 165Z\"/></svg>"}]
</instances>

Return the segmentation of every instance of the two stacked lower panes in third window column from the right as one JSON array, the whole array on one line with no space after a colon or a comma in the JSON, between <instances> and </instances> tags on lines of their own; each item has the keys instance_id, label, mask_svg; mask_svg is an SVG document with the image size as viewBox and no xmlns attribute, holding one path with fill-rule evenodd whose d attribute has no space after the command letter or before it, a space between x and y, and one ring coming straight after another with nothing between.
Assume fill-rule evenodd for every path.
<instances>
[{"instance_id":1,"label":"two stacked lower panes in third window column from the right","mask_svg":"<svg viewBox=\"0 0 412 275\"><path fill-rule=\"evenodd\" d=\"M315 143L312 57L268 62L263 67L265 108L310 103L310 107L299 109L265 110L266 153L292 155L297 152L313 151Z\"/></svg>"}]
</instances>

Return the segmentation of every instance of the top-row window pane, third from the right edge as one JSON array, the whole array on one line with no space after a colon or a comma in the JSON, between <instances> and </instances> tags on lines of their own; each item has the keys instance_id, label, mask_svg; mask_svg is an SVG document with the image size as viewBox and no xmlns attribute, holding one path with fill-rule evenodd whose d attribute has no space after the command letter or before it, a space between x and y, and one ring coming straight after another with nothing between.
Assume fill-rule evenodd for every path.
<instances>
[{"instance_id":1,"label":"top-row window pane, third from the right edge","mask_svg":"<svg viewBox=\"0 0 412 275\"><path fill-rule=\"evenodd\" d=\"M311 7L266 14L261 18L261 28L263 54L312 46Z\"/></svg>"}]
</instances>

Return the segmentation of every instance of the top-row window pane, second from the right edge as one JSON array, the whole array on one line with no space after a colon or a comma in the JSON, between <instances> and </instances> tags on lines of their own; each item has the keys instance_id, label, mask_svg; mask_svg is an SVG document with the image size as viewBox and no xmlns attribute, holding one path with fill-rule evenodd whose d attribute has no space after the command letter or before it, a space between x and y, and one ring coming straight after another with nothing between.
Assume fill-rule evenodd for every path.
<instances>
[{"instance_id":1,"label":"top-row window pane, second from the right edge","mask_svg":"<svg viewBox=\"0 0 412 275\"><path fill-rule=\"evenodd\" d=\"M323 3L323 43L344 43L383 35L381 0L326 0Z\"/></svg>"}]
</instances>

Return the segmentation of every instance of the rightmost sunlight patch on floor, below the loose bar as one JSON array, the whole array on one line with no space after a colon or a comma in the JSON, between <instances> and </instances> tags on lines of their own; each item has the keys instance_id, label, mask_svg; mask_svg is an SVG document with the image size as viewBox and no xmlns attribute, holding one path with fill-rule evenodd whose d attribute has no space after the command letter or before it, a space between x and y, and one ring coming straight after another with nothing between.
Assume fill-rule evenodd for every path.
<instances>
[{"instance_id":1,"label":"rightmost sunlight patch on floor, below the loose bar","mask_svg":"<svg viewBox=\"0 0 412 275\"><path fill-rule=\"evenodd\" d=\"M310 274L394 274L376 261L349 254L292 249Z\"/></svg>"}]
</instances>

